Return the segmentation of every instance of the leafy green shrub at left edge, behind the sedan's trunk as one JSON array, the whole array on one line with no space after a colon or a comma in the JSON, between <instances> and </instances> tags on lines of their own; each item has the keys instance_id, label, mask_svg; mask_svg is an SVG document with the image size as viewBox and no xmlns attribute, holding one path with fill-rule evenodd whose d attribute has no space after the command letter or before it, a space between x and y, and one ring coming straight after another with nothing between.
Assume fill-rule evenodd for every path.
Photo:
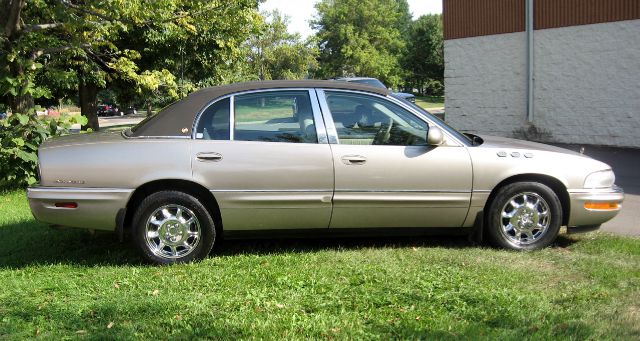
<instances>
[{"instance_id":1,"label":"leafy green shrub at left edge, behind the sedan's trunk","mask_svg":"<svg viewBox=\"0 0 640 341\"><path fill-rule=\"evenodd\" d=\"M38 147L52 136L69 133L83 116L36 116L14 113L0 121L0 188L16 188L38 181Z\"/></svg>"}]
</instances>

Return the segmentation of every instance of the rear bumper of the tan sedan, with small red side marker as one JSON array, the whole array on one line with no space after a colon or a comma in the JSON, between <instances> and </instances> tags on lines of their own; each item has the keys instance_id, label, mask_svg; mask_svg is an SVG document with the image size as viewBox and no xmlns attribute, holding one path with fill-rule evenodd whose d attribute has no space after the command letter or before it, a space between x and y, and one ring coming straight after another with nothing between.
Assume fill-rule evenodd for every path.
<instances>
[{"instance_id":1,"label":"rear bumper of the tan sedan, with small red side marker","mask_svg":"<svg viewBox=\"0 0 640 341\"><path fill-rule=\"evenodd\" d=\"M30 187L27 189L33 216L44 223L94 230L114 231L118 211L127 206L130 189ZM76 208L56 207L74 202Z\"/></svg>"}]
</instances>

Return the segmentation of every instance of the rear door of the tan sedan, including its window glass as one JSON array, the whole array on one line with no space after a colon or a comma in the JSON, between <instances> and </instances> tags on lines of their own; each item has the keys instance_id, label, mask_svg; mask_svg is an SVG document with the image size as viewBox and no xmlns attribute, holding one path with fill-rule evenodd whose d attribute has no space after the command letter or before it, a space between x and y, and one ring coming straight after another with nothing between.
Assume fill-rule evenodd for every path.
<instances>
[{"instance_id":1,"label":"rear door of the tan sedan, including its window glass","mask_svg":"<svg viewBox=\"0 0 640 341\"><path fill-rule=\"evenodd\" d=\"M315 91L212 104L191 154L194 180L213 192L225 230L328 227L333 165Z\"/></svg>"}]
</instances>

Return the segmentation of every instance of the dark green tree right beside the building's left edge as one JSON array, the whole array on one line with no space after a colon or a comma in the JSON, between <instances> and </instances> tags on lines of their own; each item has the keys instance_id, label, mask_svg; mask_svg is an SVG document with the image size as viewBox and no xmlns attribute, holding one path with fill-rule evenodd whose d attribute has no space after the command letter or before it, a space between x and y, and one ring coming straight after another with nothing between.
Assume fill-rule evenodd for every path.
<instances>
[{"instance_id":1,"label":"dark green tree right beside the building's left edge","mask_svg":"<svg viewBox=\"0 0 640 341\"><path fill-rule=\"evenodd\" d=\"M444 82L442 17L423 15L411 24L404 65L407 83L421 95L441 95Z\"/></svg>"}]
</instances>

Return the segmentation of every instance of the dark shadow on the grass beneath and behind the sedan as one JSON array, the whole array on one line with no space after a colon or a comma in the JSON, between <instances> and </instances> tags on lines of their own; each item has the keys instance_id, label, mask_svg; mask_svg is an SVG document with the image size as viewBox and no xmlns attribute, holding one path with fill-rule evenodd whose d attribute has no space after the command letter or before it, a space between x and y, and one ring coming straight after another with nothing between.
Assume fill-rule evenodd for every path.
<instances>
[{"instance_id":1,"label":"dark shadow on the grass beneath and behind the sedan","mask_svg":"<svg viewBox=\"0 0 640 341\"><path fill-rule=\"evenodd\" d=\"M560 235L554 248L568 248L579 239ZM239 254L306 253L322 250L365 248L453 248L489 247L469 242L466 236L334 237L220 240L215 256ZM80 266L148 265L129 240L119 242L114 233L91 234L82 229L53 229L34 220L0 228L0 268L32 265L72 264Z\"/></svg>"}]
</instances>

